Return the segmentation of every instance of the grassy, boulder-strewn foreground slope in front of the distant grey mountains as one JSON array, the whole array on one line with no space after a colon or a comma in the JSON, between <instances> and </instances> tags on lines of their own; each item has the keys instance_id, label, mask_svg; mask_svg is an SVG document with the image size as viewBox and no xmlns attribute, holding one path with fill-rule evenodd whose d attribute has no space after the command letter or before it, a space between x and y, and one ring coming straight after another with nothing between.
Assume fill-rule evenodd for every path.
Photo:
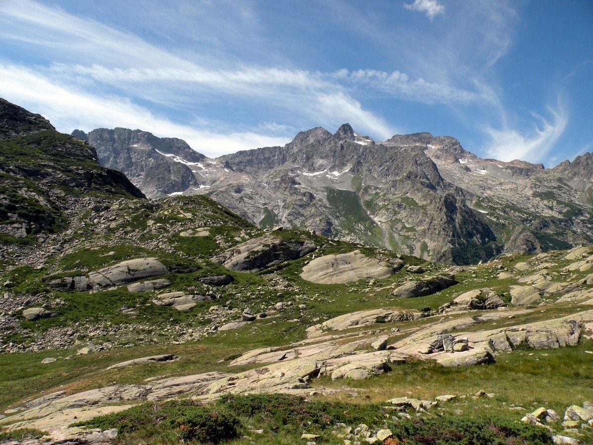
<instances>
[{"instance_id":1,"label":"grassy, boulder-strewn foreground slope in front of the distant grey mountains","mask_svg":"<svg viewBox=\"0 0 593 445\"><path fill-rule=\"evenodd\" d=\"M451 266L262 230L207 196L145 199L5 101L0 123L0 440L146 443L75 423L278 393L378 411L294 430L247 417L232 443L389 445L408 421L491 415L535 425L522 443L592 440L592 247Z\"/></svg>"}]
</instances>

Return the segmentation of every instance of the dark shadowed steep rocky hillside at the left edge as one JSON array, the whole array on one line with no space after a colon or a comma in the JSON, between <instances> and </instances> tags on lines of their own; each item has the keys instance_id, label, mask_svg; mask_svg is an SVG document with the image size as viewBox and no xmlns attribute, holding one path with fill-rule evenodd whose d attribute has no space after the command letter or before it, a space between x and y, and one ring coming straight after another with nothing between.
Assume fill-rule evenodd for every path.
<instances>
[{"instance_id":1,"label":"dark shadowed steep rocky hillside at the left edge","mask_svg":"<svg viewBox=\"0 0 593 445\"><path fill-rule=\"evenodd\" d=\"M62 230L75 198L90 192L144 198L122 172L100 167L93 147L4 99L0 173L0 234L17 239Z\"/></svg>"}]
</instances>

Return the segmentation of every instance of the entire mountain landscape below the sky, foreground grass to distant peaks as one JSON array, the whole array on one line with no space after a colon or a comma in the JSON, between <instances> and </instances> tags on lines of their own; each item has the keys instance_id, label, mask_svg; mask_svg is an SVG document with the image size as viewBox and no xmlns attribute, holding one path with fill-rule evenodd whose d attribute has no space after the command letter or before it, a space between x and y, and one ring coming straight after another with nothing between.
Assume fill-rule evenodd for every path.
<instances>
[{"instance_id":1,"label":"entire mountain landscape below the sky, foreground grass to distant peaks","mask_svg":"<svg viewBox=\"0 0 593 445\"><path fill-rule=\"evenodd\" d=\"M591 443L589 157L0 100L0 443Z\"/></svg>"}]
</instances>

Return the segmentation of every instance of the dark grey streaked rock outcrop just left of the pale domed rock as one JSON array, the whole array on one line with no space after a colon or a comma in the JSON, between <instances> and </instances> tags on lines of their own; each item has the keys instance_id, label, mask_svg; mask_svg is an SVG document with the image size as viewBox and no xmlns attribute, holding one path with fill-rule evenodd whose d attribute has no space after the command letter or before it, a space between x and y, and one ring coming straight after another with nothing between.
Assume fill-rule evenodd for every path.
<instances>
[{"instance_id":1,"label":"dark grey streaked rock outcrop just left of the pale domed rock","mask_svg":"<svg viewBox=\"0 0 593 445\"><path fill-rule=\"evenodd\" d=\"M211 258L229 271L259 272L315 250L313 241L282 240L271 234L245 241Z\"/></svg>"}]
</instances>

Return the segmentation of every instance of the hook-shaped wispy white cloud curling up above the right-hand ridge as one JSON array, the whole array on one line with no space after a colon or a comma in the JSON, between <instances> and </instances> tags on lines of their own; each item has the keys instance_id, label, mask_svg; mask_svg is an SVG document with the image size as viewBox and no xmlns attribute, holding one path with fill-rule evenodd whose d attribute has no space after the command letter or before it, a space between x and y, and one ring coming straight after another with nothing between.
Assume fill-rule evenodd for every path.
<instances>
[{"instance_id":1,"label":"hook-shaped wispy white cloud curling up above the right-hand ridge","mask_svg":"<svg viewBox=\"0 0 593 445\"><path fill-rule=\"evenodd\" d=\"M568 115L562 106L549 107L553 121L533 113L539 125L531 131L521 132L506 126L503 129L486 128L490 144L486 147L489 157L500 161L520 159L538 163L546 159L547 154L562 135L568 125Z\"/></svg>"}]
</instances>

